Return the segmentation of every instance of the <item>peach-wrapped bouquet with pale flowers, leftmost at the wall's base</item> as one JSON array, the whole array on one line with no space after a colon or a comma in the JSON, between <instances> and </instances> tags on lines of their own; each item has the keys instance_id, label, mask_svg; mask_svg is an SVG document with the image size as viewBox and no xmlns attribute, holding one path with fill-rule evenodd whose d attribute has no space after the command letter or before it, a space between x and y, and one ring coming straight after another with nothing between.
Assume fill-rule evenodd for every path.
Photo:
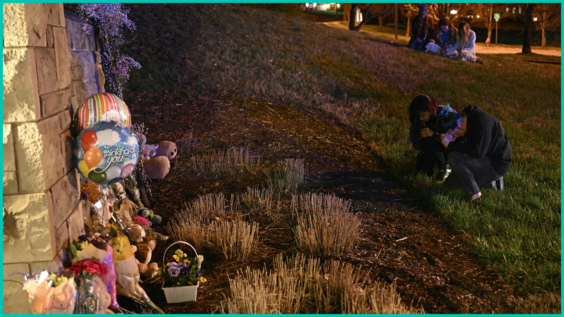
<instances>
[{"instance_id":1,"label":"peach-wrapped bouquet with pale flowers, leftmost at the wall's base","mask_svg":"<svg viewBox=\"0 0 564 317\"><path fill-rule=\"evenodd\" d=\"M72 314L74 311L77 292L73 277L43 271L25 280L23 290L36 314Z\"/></svg>"}]
</instances>

